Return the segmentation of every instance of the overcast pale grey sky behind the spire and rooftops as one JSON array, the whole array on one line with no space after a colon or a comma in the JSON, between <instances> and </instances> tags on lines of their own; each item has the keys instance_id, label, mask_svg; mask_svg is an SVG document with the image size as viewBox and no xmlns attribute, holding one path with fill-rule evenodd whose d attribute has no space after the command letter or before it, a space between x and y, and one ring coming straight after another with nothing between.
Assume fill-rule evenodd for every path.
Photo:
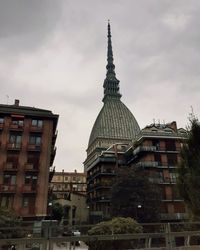
<instances>
[{"instance_id":1,"label":"overcast pale grey sky behind the spire and rooftops","mask_svg":"<svg viewBox=\"0 0 200 250\"><path fill-rule=\"evenodd\" d=\"M140 127L185 127L191 106L200 112L199 0L0 0L0 103L59 114L57 170L83 171L108 19L121 100Z\"/></svg>"}]
</instances>

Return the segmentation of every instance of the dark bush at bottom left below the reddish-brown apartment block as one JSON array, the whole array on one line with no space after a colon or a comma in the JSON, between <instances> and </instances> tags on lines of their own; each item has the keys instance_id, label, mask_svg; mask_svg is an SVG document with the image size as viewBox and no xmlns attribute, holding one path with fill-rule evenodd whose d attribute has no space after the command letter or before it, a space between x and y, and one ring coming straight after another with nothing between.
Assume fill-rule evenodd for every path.
<instances>
[{"instance_id":1,"label":"dark bush at bottom left below the reddish-brown apartment block","mask_svg":"<svg viewBox=\"0 0 200 250\"><path fill-rule=\"evenodd\" d=\"M21 218L16 216L13 211L0 207L0 238L23 237L23 231L17 230L21 221Z\"/></svg>"}]
</instances>

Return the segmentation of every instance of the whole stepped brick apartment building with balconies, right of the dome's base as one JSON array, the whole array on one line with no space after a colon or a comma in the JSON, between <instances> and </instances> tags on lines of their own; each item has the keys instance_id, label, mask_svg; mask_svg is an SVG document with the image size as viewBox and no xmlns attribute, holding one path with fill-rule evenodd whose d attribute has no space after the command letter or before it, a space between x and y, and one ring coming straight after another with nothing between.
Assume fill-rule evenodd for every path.
<instances>
[{"instance_id":1,"label":"whole stepped brick apartment building with balconies, right of the dome's base","mask_svg":"<svg viewBox=\"0 0 200 250\"><path fill-rule=\"evenodd\" d=\"M111 188L119 167L142 168L149 180L161 188L161 221L187 218L183 200L176 187L180 148L187 138L176 122L145 127L133 146L114 144L93 162L88 171L88 205L91 221L110 217ZM143 204L141 205L141 209Z\"/></svg>"}]
</instances>

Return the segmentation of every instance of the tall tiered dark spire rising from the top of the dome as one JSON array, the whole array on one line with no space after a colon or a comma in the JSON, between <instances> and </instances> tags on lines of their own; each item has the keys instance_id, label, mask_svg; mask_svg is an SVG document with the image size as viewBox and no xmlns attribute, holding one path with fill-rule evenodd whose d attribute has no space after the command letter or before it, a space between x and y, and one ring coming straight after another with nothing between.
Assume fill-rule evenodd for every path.
<instances>
[{"instance_id":1,"label":"tall tiered dark spire rising from the top of the dome","mask_svg":"<svg viewBox=\"0 0 200 250\"><path fill-rule=\"evenodd\" d=\"M111 29L110 22L108 20L108 48L107 48L107 73L106 79L104 80L104 98L103 102L107 99L115 98L120 99L121 94L119 93L119 80L117 80L115 75L115 65L113 63L113 51L112 51L112 41L111 41Z\"/></svg>"}]
</instances>

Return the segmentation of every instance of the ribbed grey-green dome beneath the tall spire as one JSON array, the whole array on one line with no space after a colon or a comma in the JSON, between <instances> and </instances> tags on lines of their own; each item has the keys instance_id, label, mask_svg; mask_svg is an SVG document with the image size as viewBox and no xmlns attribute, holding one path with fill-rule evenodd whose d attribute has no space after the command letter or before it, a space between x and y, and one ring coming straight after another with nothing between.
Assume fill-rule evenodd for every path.
<instances>
[{"instance_id":1,"label":"ribbed grey-green dome beneath the tall spire","mask_svg":"<svg viewBox=\"0 0 200 250\"><path fill-rule=\"evenodd\" d=\"M140 127L131 111L119 100L108 99L92 128L89 145L96 138L132 140Z\"/></svg>"}]
</instances>

